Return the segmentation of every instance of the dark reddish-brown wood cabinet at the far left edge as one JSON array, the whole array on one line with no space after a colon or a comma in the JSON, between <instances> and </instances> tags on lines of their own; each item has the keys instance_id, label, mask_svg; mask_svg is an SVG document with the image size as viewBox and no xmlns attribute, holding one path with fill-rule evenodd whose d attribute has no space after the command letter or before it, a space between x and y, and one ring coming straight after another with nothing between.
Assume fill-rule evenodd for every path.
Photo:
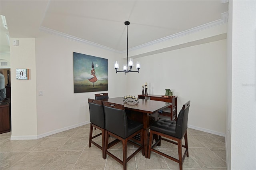
<instances>
[{"instance_id":1,"label":"dark reddish-brown wood cabinet at the far left edge","mask_svg":"<svg viewBox=\"0 0 256 170\"><path fill-rule=\"evenodd\" d=\"M0 103L0 133L10 132L11 130L11 100L5 99Z\"/></svg>"}]
</instances>

